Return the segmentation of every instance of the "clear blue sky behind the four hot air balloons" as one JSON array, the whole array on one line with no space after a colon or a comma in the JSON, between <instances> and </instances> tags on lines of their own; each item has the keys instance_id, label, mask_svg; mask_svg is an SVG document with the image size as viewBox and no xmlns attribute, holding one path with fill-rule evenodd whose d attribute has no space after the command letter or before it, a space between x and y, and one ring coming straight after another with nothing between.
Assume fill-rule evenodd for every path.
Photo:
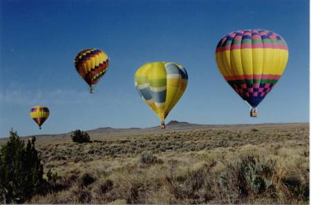
<instances>
[{"instance_id":1,"label":"clear blue sky behind the four hot air balloons","mask_svg":"<svg viewBox=\"0 0 311 205\"><path fill-rule=\"evenodd\" d=\"M149 61L176 61L189 84L167 117L198 124L309 121L309 1L1 1L0 136L67 133L160 123L133 86ZM227 33L261 28L288 43L288 66L258 106L259 117L220 75L216 45ZM73 59L84 48L111 58L95 95ZM42 130L32 106L50 108Z\"/></svg>"}]
</instances>

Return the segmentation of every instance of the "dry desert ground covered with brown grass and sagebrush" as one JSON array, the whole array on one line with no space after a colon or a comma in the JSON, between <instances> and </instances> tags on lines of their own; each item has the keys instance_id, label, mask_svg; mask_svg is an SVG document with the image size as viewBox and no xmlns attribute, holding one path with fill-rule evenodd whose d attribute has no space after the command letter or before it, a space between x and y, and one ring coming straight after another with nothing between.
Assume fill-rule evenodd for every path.
<instances>
[{"instance_id":1,"label":"dry desert ground covered with brown grass and sagebrush","mask_svg":"<svg viewBox=\"0 0 311 205\"><path fill-rule=\"evenodd\" d=\"M309 204L309 124L87 132L85 144L70 133L36 137L55 188L28 203Z\"/></svg>"}]
</instances>

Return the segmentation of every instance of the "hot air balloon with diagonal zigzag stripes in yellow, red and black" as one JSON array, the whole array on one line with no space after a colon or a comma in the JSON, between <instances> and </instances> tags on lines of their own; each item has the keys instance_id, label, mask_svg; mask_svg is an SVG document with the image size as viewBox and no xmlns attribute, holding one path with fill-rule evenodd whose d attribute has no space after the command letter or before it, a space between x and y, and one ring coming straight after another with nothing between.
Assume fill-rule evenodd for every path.
<instances>
[{"instance_id":1,"label":"hot air balloon with diagonal zigzag stripes in yellow, red and black","mask_svg":"<svg viewBox=\"0 0 311 205\"><path fill-rule=\"evenodd\" d=\"M91 93L94 93L92 86L102 78L108 66L108 55L96 48L82 50L75 57L75 68L82 79L90 86Z\"/></svg>"}]
</instances>

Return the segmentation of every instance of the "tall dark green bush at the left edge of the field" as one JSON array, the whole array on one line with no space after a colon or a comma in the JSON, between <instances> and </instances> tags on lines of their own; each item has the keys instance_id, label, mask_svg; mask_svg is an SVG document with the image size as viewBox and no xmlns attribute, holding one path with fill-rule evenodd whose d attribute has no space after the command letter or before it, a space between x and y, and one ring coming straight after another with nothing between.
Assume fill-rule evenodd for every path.
<instances>
[{"instance_id":1,"label":"tall dark green bush at the left edge of the field","mask_svg":"<svg viewBox=\"0 0 311 205\"><path fill-rule=\"evenodd\" d=\"M35 149L35 140L25 147L17 132L0 149L0 199L2 203L23 203L45 190L44 169Z\"/></svg>"}]
</instances>

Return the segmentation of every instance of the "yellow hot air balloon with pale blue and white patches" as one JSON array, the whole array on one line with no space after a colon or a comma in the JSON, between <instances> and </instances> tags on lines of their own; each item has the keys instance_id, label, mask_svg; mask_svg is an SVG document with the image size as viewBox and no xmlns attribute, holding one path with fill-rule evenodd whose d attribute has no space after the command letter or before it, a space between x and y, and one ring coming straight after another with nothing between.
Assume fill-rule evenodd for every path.
<instances>
[{"instance_id":1,"label":"yellow hot air balloon with pale blue and white patches","mask_svg":"<svg viewBox=\"0 0 311 205\"><path fill-rule=\"evenodd\" d=\"M161 128L164 119L185 92L188 83L187 71L173 62L144 64L135 73L134 84L144 102L158 115Z\"/></svg>"}]
</instances>

